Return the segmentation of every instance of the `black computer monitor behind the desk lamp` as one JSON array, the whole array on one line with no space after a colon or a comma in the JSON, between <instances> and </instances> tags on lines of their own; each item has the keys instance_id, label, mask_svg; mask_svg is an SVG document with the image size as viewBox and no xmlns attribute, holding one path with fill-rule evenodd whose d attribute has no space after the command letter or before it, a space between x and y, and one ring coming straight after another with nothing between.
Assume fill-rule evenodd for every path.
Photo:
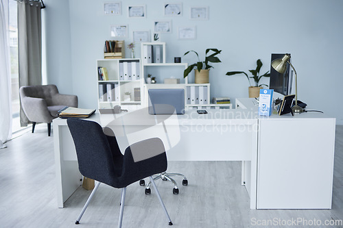
<instances>
[{"instance_id":1,"label":"black computer monitor behind the desk lamp","mask_svg":"<svg viewBox=\"0 0 343 228\"><path fill-rule=\"evenodd\" d=\"M285 54L279 54L279 53L272 53L272 59L273 60L283 58ZM270 81L269 81L269 88L273 89L274 92L278 92L279 94L283 94L284 96L287 96L289 94L293 94L292 92L292 82L293 82L293 71L292 68L289 67L289 64L287 64L287 70L285 73L281 74L272 67L272 64L270 64Z\"/></svg>"}]
</instances>

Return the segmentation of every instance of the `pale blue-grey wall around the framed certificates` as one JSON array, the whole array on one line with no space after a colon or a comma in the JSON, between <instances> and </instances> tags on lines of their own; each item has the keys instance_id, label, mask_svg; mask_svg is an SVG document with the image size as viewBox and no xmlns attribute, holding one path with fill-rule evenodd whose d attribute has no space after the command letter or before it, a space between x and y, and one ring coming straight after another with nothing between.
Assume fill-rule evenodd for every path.
<instances>
[{"instance_id":1,"label":"pale blue-grey wall around the framed certificates","mask_svg":"<svg viewBox=\"0 0 343 228\"><path fill-rule=\"evenodd\" d=\"M196 50L204 57L207 48L222 49L221 64L211 69L211 97L248 97L243 75L226 76L227 71L248 71L261 59L261 73L270 70L271 53L291 53L298 73L298 99L308 109L322 110L343 124L340 90L343 77L343 1L340 0L245 0L182 2L180 17L163 16L165 1L144 1L147 17L128 18L128 5L142 1L121 1L121 16L106 16L105 1L46 0L47 81L62 92L77 94L80 107L97 107L96 64L103 58L104 40L111 40L110 25L128 24L133 30L153 30L153 21L171 20L172 33L161 34L167 43L167 62ZM167 2L167 1L166 1ZM170 1L174 2L174 1ZM209 21L189 19L189 7L209 5ZM196 40L178 40L179 26L196 26ZM139 45L137 45L139 46ZM140 56L140 47L136 56ZM128 50L126 50L128 53ZM127 55L129 58L130 56ZM192 64L192 55L182 58ZM268 79L264 82L268 84Z\"/></svg>"}]
</instances>

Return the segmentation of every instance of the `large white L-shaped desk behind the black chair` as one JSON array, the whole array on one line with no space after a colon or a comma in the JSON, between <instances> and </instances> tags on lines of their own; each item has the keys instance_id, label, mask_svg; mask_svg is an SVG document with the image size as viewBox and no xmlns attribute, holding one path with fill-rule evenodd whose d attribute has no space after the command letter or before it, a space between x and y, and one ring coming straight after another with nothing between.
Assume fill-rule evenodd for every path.
<instances>
[{"instance_id":1,"label":"large white L-shaped desk behind the black chair","mask_svg":"<svg viewBox=\"0 0 343 228\"><path fill-rule=\"evenodd\" d=\"M169 118L137 110L119 115L95 114L87 120L113 128L122 151L138 140L158 137L170 161L246 161L242 165L242 183L252 209L331 208L335 119L318 113L259 118L251 99L236 103L245 109L209 110L206 115L188 110L185 115ZM299 124L303 130L290 134ZM281 127L286 130L279 132ZM279 137L294 142L303 153L289 153L289 147L279 146ZM316 138L316 144L309 147L311 137ZM54 120L54 144L58 207L63 207L81 184L65 119ZM319 164L322 169L316 166Z\"/></svg>"}]
</instances>

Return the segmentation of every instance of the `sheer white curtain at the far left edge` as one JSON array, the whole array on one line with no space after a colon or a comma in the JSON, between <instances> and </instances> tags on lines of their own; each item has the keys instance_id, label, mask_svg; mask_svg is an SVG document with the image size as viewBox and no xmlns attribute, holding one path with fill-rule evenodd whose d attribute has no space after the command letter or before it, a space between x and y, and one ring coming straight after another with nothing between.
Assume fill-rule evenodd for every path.
<instances>
[{"instance_id":1,"label":"sheer white curtain at the far left edge","mask_svg":"<svg viewBox=\"0 0 343 228\"><path fill-rule=\"evenodd\" d=\"M8 0L0 0L0 149L12 137Z\"/></svg>"}]
</instances>

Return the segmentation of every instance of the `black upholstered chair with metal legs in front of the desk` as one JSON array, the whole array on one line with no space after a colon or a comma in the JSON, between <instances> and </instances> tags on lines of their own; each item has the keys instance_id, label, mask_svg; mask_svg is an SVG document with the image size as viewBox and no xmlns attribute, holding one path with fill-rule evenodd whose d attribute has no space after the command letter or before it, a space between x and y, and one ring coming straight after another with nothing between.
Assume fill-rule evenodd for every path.
<instances>
[{"instance_id":1,"label":"black upholstered chair with metal legs in front of the desk","mask_svg":"<svg viewBox=\"0 0 343 228\"><path fill-rule=\"evenodd\" d=\"M113 131L108 127L103 130L98 123L78 118L68 118L67 124L78 155L80 173L84 177L98 181L75 224L80 223L80 219L99 184L106 183L113 188L122 189L118 223L118 227L121 227L126 186L145 177L150 177L169 225L173 225L158 193L154 179L151 177L155 173L162 173L167 170L165 147L159 138L150 138L134 143L126 148L123 155Z\"/></svg>"}]
</instances>

